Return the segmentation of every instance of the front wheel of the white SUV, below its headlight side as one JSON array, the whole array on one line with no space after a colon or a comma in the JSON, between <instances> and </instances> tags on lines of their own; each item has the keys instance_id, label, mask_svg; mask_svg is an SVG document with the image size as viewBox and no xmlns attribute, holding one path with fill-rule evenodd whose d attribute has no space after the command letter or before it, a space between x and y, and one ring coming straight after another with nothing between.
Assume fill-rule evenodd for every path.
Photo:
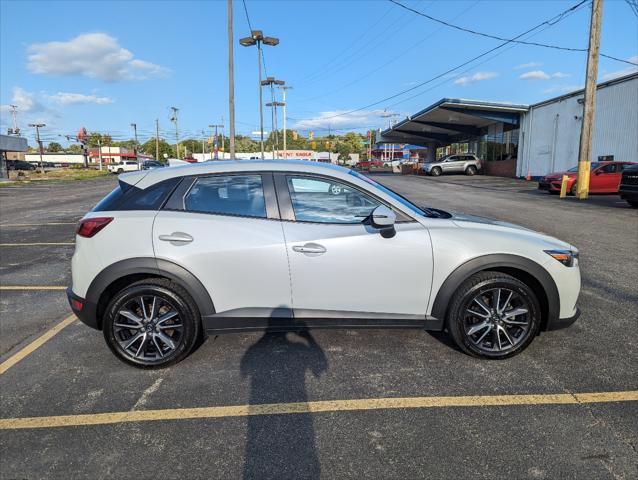
<instances>
[{"instance_id":1,"label":"front wheel of the white SUV, below its headlight side","mask_svg":"<svg viewBox=\"0 0 638 480\"><path fill-rule=\"evenodd\" d=\"M499 308L494 311L497 298ZM515 311L520 313L507 316ZM501 272L479 272L463 282L452 297L446 322L452 339L465 353L500 360L519 354L534 340L540 330L541 310L525 283Z\"/></svg>"}]
</instances>

